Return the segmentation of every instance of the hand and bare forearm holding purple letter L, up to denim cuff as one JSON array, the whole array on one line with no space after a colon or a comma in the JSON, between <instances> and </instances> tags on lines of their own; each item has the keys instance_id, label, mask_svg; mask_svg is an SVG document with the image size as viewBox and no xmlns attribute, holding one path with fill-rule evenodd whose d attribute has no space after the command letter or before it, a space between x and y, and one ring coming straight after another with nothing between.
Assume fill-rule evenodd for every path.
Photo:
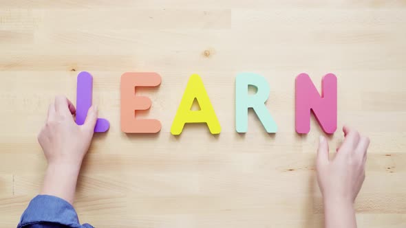
<instances>
[{"instance_id":1,"label":"hand and bare forearm holding purple letter L, up to denim cuff","mask_svg":"<svg viewBox=\"0 0 406 228\"><path fill-rule=\"evenodd\" d=\"M48 161L41 194L57 196L73 204L83 157L92 141L97 120L96 106L90 107L85 124L74 122L74 105L64 96L50 104L47 122L38 135Z\"/></svg>"}]
</instances>

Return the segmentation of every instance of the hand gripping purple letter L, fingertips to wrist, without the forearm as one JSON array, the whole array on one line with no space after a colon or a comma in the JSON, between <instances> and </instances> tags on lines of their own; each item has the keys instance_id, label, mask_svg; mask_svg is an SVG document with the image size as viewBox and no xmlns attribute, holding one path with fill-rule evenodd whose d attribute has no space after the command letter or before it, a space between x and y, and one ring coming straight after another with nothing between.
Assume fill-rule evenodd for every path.
<instances>
[{"instance_id":1,"label":"hand gripping purple letter L, fingertips to wrist, without the forearm","mask_svg":"<svg viewBox=\"0 0 406 228\"><path fill-rule=\"evenodd\" d=\"M82 126L74 122L75 112L72 102L64 96L57 96L50 104L46 124L38 135L48 165L69 164L80 168L92 141L97 108L90 107Z\"/></svg>"}]
</instances>

